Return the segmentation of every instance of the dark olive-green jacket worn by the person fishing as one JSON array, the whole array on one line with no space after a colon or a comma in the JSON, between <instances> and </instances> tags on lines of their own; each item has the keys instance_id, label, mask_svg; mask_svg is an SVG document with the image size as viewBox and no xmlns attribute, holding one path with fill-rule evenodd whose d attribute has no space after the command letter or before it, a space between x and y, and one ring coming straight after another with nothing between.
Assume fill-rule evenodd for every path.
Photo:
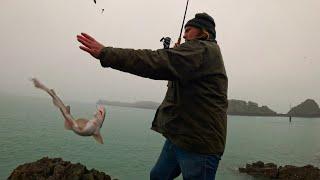
<instances>
[{"instance_id":1,"label":"dark olive-green jacket worn by the person fishing","mask_svg":"<svg viewBox=\"0 0 320 180\"><path fill-rule=\"evenodd\" d=\"M99 59L103 67L168 80L151 129L188 151L223 154L228 78L215 42L191 40L155 51L105 47Z\"/></svg>"}]
</instances>

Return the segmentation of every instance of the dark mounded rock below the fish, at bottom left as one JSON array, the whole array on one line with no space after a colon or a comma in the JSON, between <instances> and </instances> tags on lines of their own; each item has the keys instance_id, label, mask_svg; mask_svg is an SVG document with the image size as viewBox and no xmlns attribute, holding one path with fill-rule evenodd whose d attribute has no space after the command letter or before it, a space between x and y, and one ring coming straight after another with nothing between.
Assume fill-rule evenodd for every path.
<instances>
[{"instance_id":1,"label":"dark mounded rock below the fish, at bottom left","mask_svg":"<svg viewBox=\"0 0 320 180\"><path fill-rule=\"evenodd\" d=\"M109 175L84 165L72 164L61 158L44 157L36 162L26 163L13 170L8 180L111 180Z\"/></svg>"}]
</instances>

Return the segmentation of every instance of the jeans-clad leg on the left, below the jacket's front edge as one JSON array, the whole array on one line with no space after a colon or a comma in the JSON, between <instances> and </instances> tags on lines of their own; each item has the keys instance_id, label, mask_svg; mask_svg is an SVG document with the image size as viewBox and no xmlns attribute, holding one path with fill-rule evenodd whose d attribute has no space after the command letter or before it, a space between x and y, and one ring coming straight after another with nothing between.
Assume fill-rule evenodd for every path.
<instances>
[{"instance_id":1,"label":"jeans-clad leg on the left, below the jacket's front edge","mask_svg":"<svg viewBox=\"0 0 320 180\"><path fill-rule=\"evenodd\" d=\"M166 140L156 165L150 172L150 180L172 180L181 173L173 144Z\"/></svg>"}]
</instances>

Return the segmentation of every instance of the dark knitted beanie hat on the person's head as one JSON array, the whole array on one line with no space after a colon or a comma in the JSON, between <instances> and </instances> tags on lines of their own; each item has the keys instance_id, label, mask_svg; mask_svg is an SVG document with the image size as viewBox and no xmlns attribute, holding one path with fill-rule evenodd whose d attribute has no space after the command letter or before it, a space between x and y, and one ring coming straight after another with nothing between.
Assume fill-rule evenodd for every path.
<instances>
[{"instance_id":1,"label":"dark knitted beanie hat on the person's head","mask_svg":"<svg viewBox=\"0 0 320 180\"><path fill-rule=\"evenodd\" d=\"M193 19L190 19L184 27L193 26L199 29L207 30L210 34L210 38L216 39L216 24L211 16L207 13L197 13Z\"/></svg>"}]
</instances>

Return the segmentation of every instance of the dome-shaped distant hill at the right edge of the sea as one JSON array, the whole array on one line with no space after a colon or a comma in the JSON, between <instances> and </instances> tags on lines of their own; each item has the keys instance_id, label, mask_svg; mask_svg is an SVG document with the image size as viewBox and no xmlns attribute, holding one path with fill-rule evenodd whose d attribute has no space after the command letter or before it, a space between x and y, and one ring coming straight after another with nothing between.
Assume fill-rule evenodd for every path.
<instances>
[{"instance_id":1,"label":"dome-shaped distant hill at the right edge of the sea","mask_svg":"<svg viewBox=\"0 0 320 180\"><path fill-rule=\"evenodd\" d=\"M291 108L287 115L294 117L320 117L320 108L313 99L307 99Z\"/></svg>"}]
</instances>

